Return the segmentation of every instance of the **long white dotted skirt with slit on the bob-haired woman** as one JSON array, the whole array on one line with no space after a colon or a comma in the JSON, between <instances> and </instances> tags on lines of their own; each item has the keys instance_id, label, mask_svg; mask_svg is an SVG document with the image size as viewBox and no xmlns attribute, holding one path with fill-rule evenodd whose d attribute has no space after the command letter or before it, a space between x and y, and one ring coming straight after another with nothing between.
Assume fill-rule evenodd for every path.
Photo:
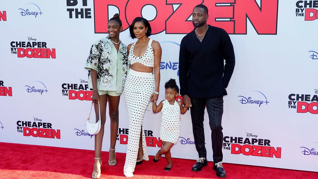
<instances>
[{"instance_id":1,"label":"long white dotted skirt with slit on the bob-haired woman","mask_svg":"<svg viewBox=\"0 0 318 179\"><path fill-rule=\"evenodd\" d=\"M155 89L155 79L152 73L129 70L125 87L125 101L128 112L128 145L124 175L134 176L139 148L140 131L142 130L143 160L149 160L145 133L143 132L143 117L149 105L151 94Z\"/></svg>"}]
</instances>

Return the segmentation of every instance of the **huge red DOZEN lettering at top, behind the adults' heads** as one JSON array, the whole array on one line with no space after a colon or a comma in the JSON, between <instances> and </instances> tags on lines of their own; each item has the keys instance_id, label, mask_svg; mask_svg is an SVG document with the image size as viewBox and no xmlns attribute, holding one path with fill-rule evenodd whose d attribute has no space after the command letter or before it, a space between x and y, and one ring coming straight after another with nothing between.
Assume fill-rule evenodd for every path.
<instances>
[{"instance_id":1,"label":"huge red DOZEN lettering at top, behind the adults' heads","mask_svg":"<svg viewBox=\"0 0 318 179\"><path fill-rule=\"evenodd\" d=\"M135 17L142 16L145 5L152 5L156 8L156 17L149 19L153 34L163 31L166 34L186 34L193 30L192 22L187 19L192 9L201 3L202 0L118 0L108 5L108 1L95 0L95 33L107 33L108 6L119 9L126 30ZM174 10L173 4L179 7ZM260 5L255 0L209 0L203 4L209 9L208 24L223 28L229 34L246 34L247 19L258 34L277 33L278 0L260 1Z\"/></svg>"}]
</instances>

